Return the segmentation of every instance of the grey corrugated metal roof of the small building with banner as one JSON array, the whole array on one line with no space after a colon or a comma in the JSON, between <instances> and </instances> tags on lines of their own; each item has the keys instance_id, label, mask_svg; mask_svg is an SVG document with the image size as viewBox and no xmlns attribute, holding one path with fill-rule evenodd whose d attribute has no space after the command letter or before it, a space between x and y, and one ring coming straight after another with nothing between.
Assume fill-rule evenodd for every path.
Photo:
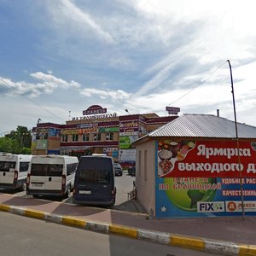
<instances>
[{"instance_id":1,"label":"grey corrugated metal roof of the small building with banner","mask_svg":"<svg viewBox=\"0 0 256 256\"><path fill-rule=\"evenodd\" d=\"M237 133L239 138L256 138L256 127L237 122ZM211 114L185 113L147 136L236 138L236 123Z\"/></svg>"}]
</instances>

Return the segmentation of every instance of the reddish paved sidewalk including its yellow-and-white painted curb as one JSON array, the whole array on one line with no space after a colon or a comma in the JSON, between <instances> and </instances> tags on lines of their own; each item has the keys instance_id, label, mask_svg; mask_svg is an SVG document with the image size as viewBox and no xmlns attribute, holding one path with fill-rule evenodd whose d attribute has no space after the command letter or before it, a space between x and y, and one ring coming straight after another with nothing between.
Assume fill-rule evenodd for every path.
<instances>
[{"instance_id":1,"label":"reddish paved sidewalk including its yellow-and-white painted curb","mask_svg":"<svg viewBox=\"0 0 256 256\"><path fill-rule=\"evenodd\" d=\"M136 212L136 201L125 204L133 212L0 194L0 210L5 212L206 252L256 255L255 217L154 219Z\"/></svg>"}]
</instances>

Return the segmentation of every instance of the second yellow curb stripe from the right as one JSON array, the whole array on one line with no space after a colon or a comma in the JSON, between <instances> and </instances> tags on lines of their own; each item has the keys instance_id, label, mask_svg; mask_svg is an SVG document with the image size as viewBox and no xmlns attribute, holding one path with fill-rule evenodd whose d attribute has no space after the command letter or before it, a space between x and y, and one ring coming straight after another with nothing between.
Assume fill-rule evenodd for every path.
<instances>
[{"instance_id":1,"label":"second yellow curb stripe from the right","mask_svg":"<svg viewBox=\"0 0 256 256\"><path fill-rule=\"evenodd\" d=\"M191 238L186 236L171 236L170 245L176 247L186 247L200 251L204 251L205 249L205 241L199 238Z\"/></svg>"}]
</instances>

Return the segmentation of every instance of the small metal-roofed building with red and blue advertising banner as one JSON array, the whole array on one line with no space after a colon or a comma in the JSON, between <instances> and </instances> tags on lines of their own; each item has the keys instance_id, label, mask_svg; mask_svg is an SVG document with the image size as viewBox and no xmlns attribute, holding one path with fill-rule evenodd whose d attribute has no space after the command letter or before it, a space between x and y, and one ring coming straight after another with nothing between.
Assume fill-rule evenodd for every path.
<instances>
[{"instance_id":1,"label":"small metal-roofed building with red and blue advertising banner","mask_svg":"<svg viewBox=\"0 0 256 256\"><path fill-rule=\"evenodd\" d=\"M137 201L152 218L256 215L256 127L183 114L133 144Z\"/></svg>"}]
</instances>

